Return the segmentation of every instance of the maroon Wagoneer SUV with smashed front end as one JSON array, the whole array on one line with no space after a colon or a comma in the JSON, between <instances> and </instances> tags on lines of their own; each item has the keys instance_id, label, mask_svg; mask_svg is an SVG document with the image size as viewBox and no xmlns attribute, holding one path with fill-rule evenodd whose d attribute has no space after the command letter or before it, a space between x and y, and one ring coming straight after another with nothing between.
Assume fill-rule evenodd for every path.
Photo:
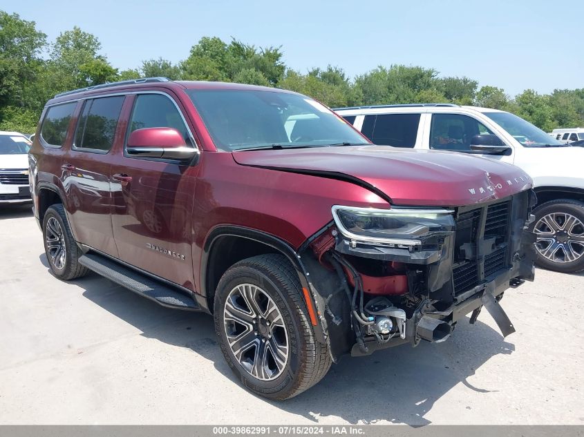
<instances>
[{"instance_id":1,"label":"maroon Wagoneer SUV with smashed front end","mask_svg":"<svg viewBox=\"0 0 584 437\"><path fill-rule=\"evenodd\" d=\"M533 280L520 168L374 146L285 90L152 78L63 93L29 159L53 273L213 313L229 366L268 398L343 353L446 340L482 307L506 336L498 302Z\"/></svg>"}]
</instances>

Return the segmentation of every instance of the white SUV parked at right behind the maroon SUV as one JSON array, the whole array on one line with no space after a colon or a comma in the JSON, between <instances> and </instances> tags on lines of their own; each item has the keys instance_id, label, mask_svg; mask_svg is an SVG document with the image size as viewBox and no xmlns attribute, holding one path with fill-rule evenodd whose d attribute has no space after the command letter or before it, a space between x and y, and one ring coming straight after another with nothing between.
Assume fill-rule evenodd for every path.
<instances>
[{"instance_id":1,"label":"white SUV parked at right behind the maroon SUV","mask_svg":"<svg viewBox=\"0 0 584 437\"><path fill-rule=\"evenodd\" d=\"M584 148L502 110L453 104L337 108L375 144L453 150L509 162L534 179L538 265L584 270ZM487 175L488 177L488 175Z\"/></svg>"}]
</instances>

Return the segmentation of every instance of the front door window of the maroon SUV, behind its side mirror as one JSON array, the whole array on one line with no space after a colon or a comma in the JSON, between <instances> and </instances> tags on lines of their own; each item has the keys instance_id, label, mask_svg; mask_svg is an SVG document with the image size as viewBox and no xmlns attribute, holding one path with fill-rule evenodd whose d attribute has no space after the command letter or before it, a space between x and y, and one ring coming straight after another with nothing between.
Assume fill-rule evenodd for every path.
<instances>
[{"instance_id":1,"label":"front door window of the maroon SUV, behind its side mirror","mask_svg":"<svg viewBox=\"0 0 584 437\"><path fill-rule=\"evenodd\" d=\"M129 133L144 128L174 128L191 144L189 130L170 97L160 94L142 94L136 97Z\"/></svg>"}]
</instances>

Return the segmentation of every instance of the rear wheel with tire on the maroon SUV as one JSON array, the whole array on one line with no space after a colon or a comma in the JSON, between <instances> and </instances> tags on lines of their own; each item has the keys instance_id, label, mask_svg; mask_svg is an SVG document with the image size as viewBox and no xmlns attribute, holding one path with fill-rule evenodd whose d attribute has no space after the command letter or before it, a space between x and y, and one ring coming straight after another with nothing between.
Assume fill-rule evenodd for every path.
<instances>
[{"instance_id":1,"label":"rear wheel with tire on the maroon SUV","mask_svg":"<svg viewBox=\"0 0 584 437\"><path fill-rule=\"evenodd\" d=\"M87 273L87 268L79 264L82 253L73 239L62 204L52 205L46 210L43 236L46 258L57 278L70 280Z\"/></svg>"}]
</instances>

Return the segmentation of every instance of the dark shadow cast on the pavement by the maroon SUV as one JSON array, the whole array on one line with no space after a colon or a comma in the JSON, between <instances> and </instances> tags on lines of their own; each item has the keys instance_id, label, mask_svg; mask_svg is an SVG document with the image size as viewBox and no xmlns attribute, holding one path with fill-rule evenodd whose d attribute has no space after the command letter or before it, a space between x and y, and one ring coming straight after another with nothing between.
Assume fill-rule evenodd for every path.
<instances>
[{"instance_id":1,"label":"dark shadow cast on the pavement by the maroon SUV","mask_svg":"<svg viewBox=\"0 0 584 437\"><path fill-rule=\"evenodd\" d=\"M45 255L39 258L48 267ZM84 289L85 298L140 329L142 336L189 348L236 381L218 346L211 316L160 307L93 273L75 283ZM444 343L422 342L415 348L386 349L362 358L345 356L318 385L296 398L274 402L256 397L314 423L333 416L353 424L387 420L424 426L431 423L424 416L434 402L461 382L479 394L496 391L473 387L468 379L489 358L514 350L512 342L487 324L478 320L470 325L463 319Z\"/></svg>"}]
</instances>

